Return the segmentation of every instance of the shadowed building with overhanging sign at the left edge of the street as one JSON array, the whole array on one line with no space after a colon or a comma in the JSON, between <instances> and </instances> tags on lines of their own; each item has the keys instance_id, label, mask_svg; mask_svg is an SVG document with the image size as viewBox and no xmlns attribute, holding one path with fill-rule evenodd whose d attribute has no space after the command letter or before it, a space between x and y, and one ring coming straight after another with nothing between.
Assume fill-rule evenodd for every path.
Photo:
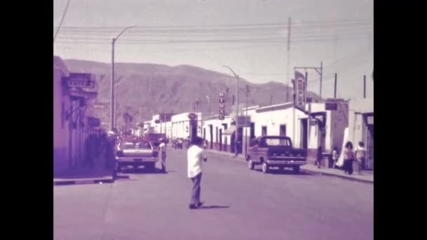
<instances>
[{"instance_id":1,"label":"shadowed building with overhanging sign at the left edge of the street","mask_svg":"<svg viewBox=\"0 0 427 240\"><path fill-rule=\"evenodd\" d=\"M84 142L93 122L86 115L86 108L96 98L97 87L93 74L68 72L63 60L53 57L54 174L80 166L84 161Z\"/></svg>"}]
</instances>

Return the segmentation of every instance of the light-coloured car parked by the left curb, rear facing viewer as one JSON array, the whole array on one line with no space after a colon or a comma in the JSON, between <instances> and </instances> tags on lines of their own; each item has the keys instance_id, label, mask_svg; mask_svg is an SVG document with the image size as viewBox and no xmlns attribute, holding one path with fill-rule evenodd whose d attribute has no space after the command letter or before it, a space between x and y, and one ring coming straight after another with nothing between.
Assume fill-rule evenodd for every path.
<instances>
[{"instance_id":1,"label":"light-coloured car parked by the left curb, rear facing viewer","mask_svg":"<svg viewBox=\"0 0 427 240\"><path fill-rule=\"evenodd\" d=\"M151 142L145 140L121 140L117 146L116 160L119 172L123 166L144 166L147 170L154 171L156 162L159 161L159 152Z\"/></svg>"}]
</instances>

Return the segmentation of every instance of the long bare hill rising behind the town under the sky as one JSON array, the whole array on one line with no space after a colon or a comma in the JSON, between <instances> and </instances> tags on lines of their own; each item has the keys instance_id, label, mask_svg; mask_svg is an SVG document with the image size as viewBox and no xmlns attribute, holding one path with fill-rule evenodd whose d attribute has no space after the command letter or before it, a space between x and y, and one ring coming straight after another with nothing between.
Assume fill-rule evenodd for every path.
<instances>
[{"instance_id":1,"label":"long bare hill rising behind the town under the sky","mask_svg":"<svg viewBox=\"0 0 427 240\"><path fill-rule=\"evenodd\" d=\"M64 60L70 72L88 72L96 74L98 79L98 107L90 109L91 114L109 122L111 65L86 60ZM199 112L208 114L211 100L211 114L218 113L218 94L229 88L226 113L231 112L232 95L235 95L234 76L213 72L189 65L170 67L147 63L116 63L116 81L121 79L118 88L117 124L124 123L123 114L133 116L133 124L151 119L156 112L191 112L193 102L198 100ZM249 85L248 106L270 105L285 102L287 86L277 82L251 84L246 79L239 81L239 107L244 107L245 88ZM315 93L308 96L318 98ZM289 89L289 100L292 92Z\"/></svg>"}]
</instances>

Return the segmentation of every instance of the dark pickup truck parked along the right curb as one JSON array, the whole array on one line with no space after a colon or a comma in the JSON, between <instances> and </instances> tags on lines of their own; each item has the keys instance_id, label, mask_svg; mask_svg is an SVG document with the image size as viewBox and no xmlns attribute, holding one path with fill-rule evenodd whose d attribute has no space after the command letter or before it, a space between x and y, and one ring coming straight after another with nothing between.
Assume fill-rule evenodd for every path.
<instances>
[{"instance_id":1,"label":"dark pickup truck parked along the right curb","mask_svg":"<svg viewBox=\"0 0 427 240\"><path fill-rule=\"evenodd\" d=\"M261 165L263 173L271 167L293 168L298 172L301 165L307 163L306 149L292 147L291 138L285 136L263 136L251 142L247 151L249 169Z\"/></svg>"}]
</instances>

